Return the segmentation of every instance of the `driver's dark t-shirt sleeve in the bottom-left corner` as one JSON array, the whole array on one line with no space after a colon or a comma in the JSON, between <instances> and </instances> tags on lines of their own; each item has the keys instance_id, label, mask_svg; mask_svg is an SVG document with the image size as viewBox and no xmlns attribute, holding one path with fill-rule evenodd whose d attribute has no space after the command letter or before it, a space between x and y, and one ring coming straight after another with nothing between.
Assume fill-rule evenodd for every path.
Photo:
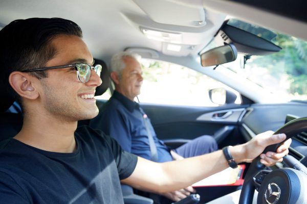
<instances>
[{"instance_id":1,"label":"driver's dark t-shirt sleeve in the bottom-left corner","mask_svg":"<svg viewBox=\"0 0 307 204\"><path fill-rule=\"evenodd\" d=\"M30 203L25 192L21 189L12 177L0 171L0 203Z\"/></svg>"}]
</instances>

